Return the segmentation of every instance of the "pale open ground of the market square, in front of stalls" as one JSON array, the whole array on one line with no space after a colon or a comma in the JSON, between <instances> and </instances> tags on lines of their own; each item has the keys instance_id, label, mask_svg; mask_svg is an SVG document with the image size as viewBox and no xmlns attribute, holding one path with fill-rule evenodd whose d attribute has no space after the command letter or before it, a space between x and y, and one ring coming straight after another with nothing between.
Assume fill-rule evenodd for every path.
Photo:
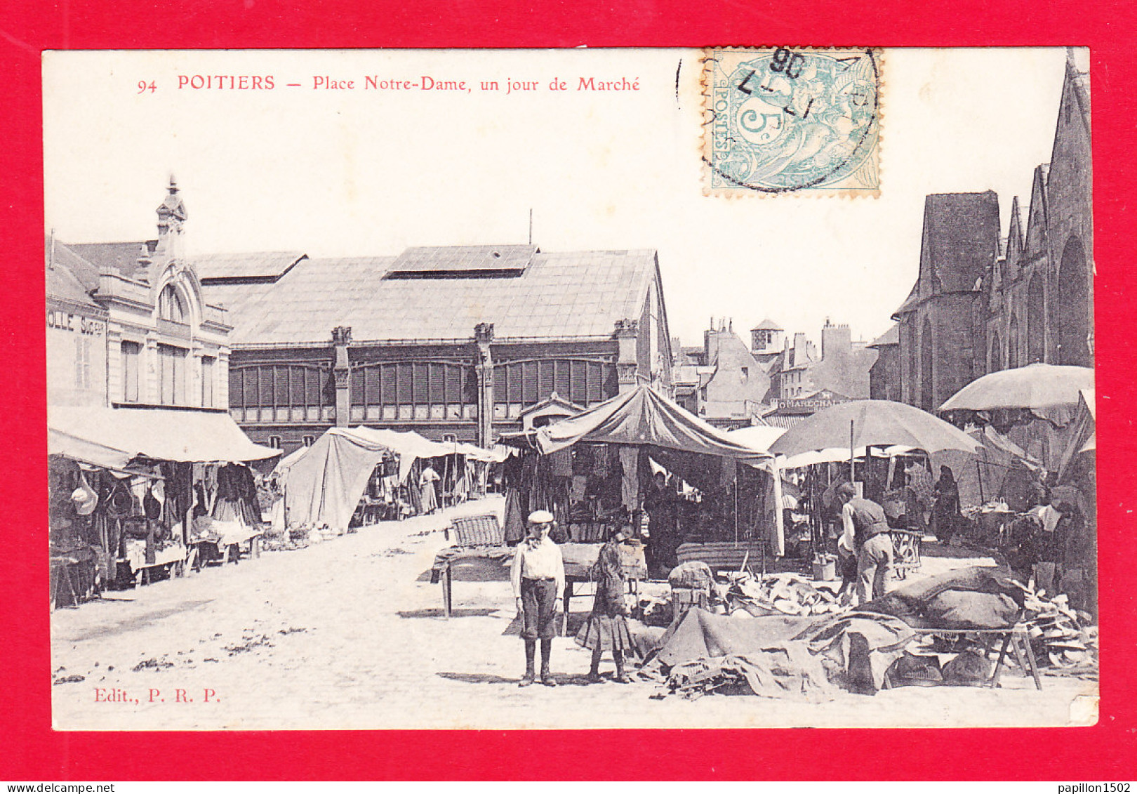
<instances>
[{"instance_id":1,"label":"pale open ground of the market square, in front of stalls","mask_svg":"<svg viewBox=\"0 0 1137 794\"><path fill-rule=\"evenodd\" d=\"M753 696L650 700L655 685L584 685L588 652L554 644L557 688L517 687L505 581L430 584L455 512L363 528L52 614L55 727L83 730L1026 726L1093 722L1096 681L1011 670L997 690L902 687L823 704ZM929 560L927 572L945 560ZM574 599L587 611L589 598ZM611 668L611 663L607 663ZM77 680L82 677L82 680ZM182 690L181 693L179 690Z\"/></svg>"}]
</instances>

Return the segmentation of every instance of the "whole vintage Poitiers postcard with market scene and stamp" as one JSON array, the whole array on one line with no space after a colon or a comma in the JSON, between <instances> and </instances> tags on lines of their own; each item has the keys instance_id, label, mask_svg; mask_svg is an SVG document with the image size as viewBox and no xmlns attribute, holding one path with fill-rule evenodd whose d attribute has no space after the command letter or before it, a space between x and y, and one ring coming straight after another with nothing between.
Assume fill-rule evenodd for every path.
<instances>
[{"instance_id":1,"label":"whole vintage Poitiers postcard with market scene and stamp","mask_svg":"<svg viewBox=\"0 0 1137 794\"><path fill-rule=\"evenodd\" d=\"M1094 725L1090 96L45 52L53 727Z\"/></svg>"}]
</instances>

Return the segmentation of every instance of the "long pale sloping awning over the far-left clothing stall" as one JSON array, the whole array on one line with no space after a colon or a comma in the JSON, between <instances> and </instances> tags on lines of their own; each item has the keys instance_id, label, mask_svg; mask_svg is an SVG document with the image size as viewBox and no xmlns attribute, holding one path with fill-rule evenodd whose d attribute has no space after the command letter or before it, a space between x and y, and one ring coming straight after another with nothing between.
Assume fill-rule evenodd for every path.
<instances>
[{"instance_id":1,"label":"long pale sloping awning over the far-left clothing stall","mask_svg":"<svg viewBox=\"0 0 1137 794\"><path fill-rule=\"evenodd\" d=\"M250 441L223 411L49 406L48 454L122 469L134 457L242 463L280 449Z\"/></svg>"}]
</instances>

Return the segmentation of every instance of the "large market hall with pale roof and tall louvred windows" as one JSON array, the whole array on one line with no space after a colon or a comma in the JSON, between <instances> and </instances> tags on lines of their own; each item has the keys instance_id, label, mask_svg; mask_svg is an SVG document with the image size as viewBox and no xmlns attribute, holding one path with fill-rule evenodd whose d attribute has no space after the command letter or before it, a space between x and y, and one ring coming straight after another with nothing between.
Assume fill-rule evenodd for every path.
<instances>
[{"instance_id":1,"label":"large market hall with pale roof and tall louvred windows","mask_svg":"<svg viewBox=\"0 0 1137 794\"><path fill-rule=\"evenodd\" d=\"M233 325L231 415L285 452L349 425L490 446L640 383L670 395L654 250L450 246L196 263Z\"/></svg>"}]
</instances>

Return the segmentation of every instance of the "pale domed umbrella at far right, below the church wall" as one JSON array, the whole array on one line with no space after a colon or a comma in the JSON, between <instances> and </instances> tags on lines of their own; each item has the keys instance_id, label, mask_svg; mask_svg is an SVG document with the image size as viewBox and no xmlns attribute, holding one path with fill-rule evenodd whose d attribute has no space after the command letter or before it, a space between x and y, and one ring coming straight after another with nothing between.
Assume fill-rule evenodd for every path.
<instances>
[{"instance_id":1,"label":"pale domed umbrella at far right, below the church wall","mask_svg":"<svg viewBox=\"0 0 1137 794\"><path fill-rule=\"evenodd\" d=\"M1094 371L1088 366L1028 364L968 383L939 406L939 412L1024 408L1038 413L1073 408L1078 392L1093 388Z\"/></svg>"}]
</instances>

